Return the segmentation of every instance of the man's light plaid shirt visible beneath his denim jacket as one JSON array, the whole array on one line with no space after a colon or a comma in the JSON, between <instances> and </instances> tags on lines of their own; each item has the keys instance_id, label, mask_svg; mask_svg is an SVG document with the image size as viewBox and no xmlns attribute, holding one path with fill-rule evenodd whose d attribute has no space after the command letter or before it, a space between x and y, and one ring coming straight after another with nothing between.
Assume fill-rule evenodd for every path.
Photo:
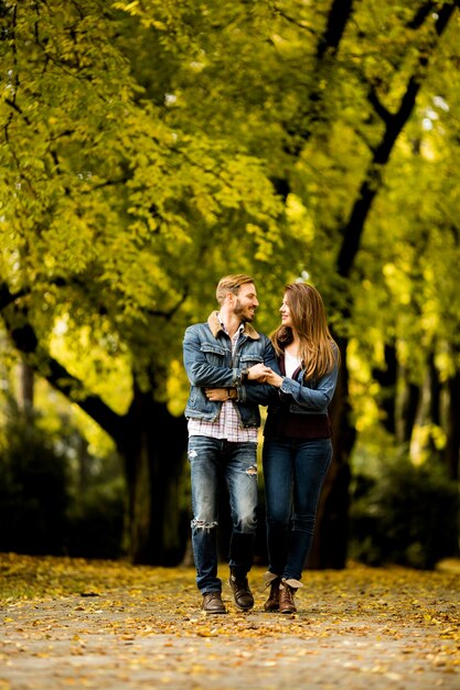
<instances>
[{"instance_id":1,"label":"man's light plaid shirt visible beneath his denim jacket","mask_svg":"<svg viewBox=\"0 0 460 690\"><path fill-rule=\"evenodd\" d=\"M222 323L225 333L227 330ZM232 338L232 352L235 352L236 343L239 334L244 330L244 324L239 325ZM201 419L189 419L189 436L211 436L212 439L226 439L234 443L250 441L257 443L258 430L245 429L239 423L238 412L236 411L233 400L225 400L222 403L221 412L214 422L203 421Z\"/></svg>"}]
</instances>

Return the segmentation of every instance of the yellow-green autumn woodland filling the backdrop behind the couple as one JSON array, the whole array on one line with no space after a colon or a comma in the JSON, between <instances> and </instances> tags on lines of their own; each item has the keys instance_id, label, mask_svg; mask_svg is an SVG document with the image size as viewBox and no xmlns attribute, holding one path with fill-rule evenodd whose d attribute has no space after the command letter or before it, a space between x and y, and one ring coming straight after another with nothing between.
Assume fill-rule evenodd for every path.
<instances>
[{"instance_id":1,"label":"yellow-green autumn woodland filling the backdrop behind the couple","mask_svg":"<svg viewBox=\"0 0 460 690\"><path fill-rule=\"evenodd\" d=\"M341 349L309 565L458 556L459 2L0 21L0 551L190 558L182 336L247 272L258 330L309 280Z\"/></svg>"}]
</instances>

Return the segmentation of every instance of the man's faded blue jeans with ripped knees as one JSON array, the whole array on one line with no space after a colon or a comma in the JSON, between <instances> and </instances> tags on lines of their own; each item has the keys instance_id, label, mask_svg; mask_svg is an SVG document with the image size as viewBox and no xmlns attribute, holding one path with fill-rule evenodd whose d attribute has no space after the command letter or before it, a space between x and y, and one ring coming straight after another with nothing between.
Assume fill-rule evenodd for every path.
<instances>
[{"instance_id":1,"label":"man's faded blue jeans with ripped knees","mask_svg":"<svg viewBox=\"0 0 460 690\"><path fill-rule=\"evenodd\" d=\"M218 498L222 479L228 488L232 535L228 564L237 578L253 565L257 509L257 443L190 436L192 547L196 585L202 594L220 592L217 578Z\"/></svg>"}]
</instances>

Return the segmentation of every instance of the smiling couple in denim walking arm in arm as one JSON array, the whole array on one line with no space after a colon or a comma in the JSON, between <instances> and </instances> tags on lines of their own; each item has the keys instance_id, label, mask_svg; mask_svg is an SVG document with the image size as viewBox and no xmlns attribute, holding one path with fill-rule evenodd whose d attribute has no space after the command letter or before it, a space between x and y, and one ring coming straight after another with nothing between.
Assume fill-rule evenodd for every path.
<instances>
[{"instance_id":1,"label":"smiling couple in denim walking arm in arm","mask_svg":"<svg viewBox=\"0 0 460 690\"><path fill-rule=\"evenodd\" d=\"M185 408L192 486L196 585L207 614L226 613L217 576L220 482L232 514L229 580L235 604L254 606L248 584L257 508L259 405L268 406L263 466L269 596L266 611L293 613L310 551L321 487L332 460L328 407L339 351L321 295L311 284L286 287L281 324L271 337L253 326L259 304L250 276L225 276L218 311L191 325L183 339L190 380Z\"/></svg>"}]
</instances>

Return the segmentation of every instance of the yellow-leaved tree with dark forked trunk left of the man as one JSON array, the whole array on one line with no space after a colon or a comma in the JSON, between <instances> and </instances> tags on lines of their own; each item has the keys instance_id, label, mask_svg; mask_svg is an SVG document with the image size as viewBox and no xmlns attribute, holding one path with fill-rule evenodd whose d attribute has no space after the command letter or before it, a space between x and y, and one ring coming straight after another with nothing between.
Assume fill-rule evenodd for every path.
<instances>
[{"instance_id":1,"label":"yellow-leaved tree with dark forked trunk left of the man","mask_svg":"<svg viewBox=\"0 0 460 690\"><path fill-rule=\"evenodd\" d=\"M242 245L264 266L259 246L278 241L281 207L261 164L237 142L169 123L164 84L161 107L145 97L124 54L133 28L124 13L83 1L3 3L2 14L2 316L29 365L115 440L133 560L176 562L186 435L182 414L168 409L168 386L181 335L197 302L211 310L232 247L235 269L254 266L242 261ZM148 60L162 33L153 31ZM225 229L215 246L217 226ZM53 355L60 320L76 355L84 336L87 356L101 346L111 356L111 364L94 358L99 378L128 363L122 413L94 375L93 389L79 378L75 356L64 366Z\"/></svg>"}]
</instances>

